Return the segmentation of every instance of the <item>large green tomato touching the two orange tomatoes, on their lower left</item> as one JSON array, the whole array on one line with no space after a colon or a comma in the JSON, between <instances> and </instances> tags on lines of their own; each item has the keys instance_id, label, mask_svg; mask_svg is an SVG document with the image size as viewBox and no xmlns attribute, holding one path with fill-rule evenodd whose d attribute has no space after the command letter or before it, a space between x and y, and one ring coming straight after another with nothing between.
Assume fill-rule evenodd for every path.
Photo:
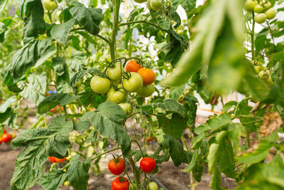
<instances>
[{"instance_id":1,"label":"large green tomato touching the two orange tomatoes, on their lower left","mask_svg":"<svg viewBox=\"0 0 284 190\"><path fill-rule=\"evenodd\" d=\"M131 72L131 78L124 79L122 83L124 84L124 89L133 93L139 90L143 85L143 78L138 73Z\"/></svg>"}]
</instances>

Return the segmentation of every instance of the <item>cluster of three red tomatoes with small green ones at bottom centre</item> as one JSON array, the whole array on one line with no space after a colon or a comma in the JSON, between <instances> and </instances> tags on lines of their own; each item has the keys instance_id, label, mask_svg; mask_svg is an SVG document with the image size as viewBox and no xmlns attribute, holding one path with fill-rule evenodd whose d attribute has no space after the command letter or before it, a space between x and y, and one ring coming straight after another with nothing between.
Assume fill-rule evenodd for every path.
<instances>
[{"instance_id":1,"label":"cluster of three red tomatoes with small green ones at bottom centre","mask_svg":"<svg viewBox=\"0 0 284 190\"><path fill-rule=\"evenodd\" d=\"M155 169L155 159L150 157L145 157L141 159L140 161L140 168L145 173L149 174ZM135 189L135 186L133 184L129 183L129 179L123 176L119 176L122 174L125 170L125 163L124 159L121 158L114 158L109 162L108 165L109 171L111 174L114 174L118 177L114 179L111 183L111 189L112 190L128 190L128 189ZM150 190L158 190L158 184L155 182L151 182L148 184L148 189Z\"/></svg>"}]
</instances>

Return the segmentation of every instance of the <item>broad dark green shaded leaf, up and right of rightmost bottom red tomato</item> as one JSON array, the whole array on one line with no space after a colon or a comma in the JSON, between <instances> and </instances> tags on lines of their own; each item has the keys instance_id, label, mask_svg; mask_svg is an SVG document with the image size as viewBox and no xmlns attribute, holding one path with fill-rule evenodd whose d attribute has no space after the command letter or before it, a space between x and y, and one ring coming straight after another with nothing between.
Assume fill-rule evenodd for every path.
<instances>
[{"instance_id":1,"label":"broad dark green shaded leaf, up and right of rightmost bottom red tomato","mask_svg":"<svg viewBox=\"0 0 284 190\"><path fill-rule=\"evenodd\" d=\"M187 122L178 114L173 114L170 119L168 117L158 117L160 127L163 127L165 134L170 134L175 139L180 139L182 132L187 128Z\"/></svg>"}]
</instances>

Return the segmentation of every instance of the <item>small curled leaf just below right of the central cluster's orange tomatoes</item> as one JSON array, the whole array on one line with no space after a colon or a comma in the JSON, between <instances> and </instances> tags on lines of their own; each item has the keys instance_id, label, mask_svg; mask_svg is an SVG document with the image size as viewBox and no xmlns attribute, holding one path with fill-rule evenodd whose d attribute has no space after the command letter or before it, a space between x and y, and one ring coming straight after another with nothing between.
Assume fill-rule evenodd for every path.
<instances>
[{"instance_id":1,"label":"small curled leaf just below right of the central cluster's orange tomatoes","mask_svg":"<svg viewBox=\"0 0 284 190\"><path fill-rule=\"evenodd\" d=\"M185 107L183 107L178 100L165 99L163 102L156 103L156 105L163 110L178 113L182 115L182 117L186 116Z\"/></svg>"}]
</instances>

